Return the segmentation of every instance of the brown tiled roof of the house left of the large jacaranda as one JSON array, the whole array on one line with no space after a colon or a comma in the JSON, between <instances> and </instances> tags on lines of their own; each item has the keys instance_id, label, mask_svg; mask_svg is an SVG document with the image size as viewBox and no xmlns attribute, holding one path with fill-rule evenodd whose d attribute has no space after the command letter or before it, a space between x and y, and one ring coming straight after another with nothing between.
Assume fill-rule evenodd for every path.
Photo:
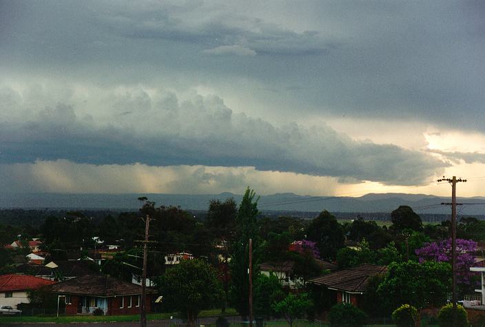
<instances>
[{"instance_id":1,"label":"brown tiled roof of the house left of the large jacaranda","mask_svg":"<svg viewBox=\"0 0 485 327\"><path fill-rule=\"evenodd\" d=\"M310 279L309 282L339 291L364 293L369 283L369 277L385 273L386 271L387 268L385 266L361 264L357 267Z\"/></svg>"}]
</instances>

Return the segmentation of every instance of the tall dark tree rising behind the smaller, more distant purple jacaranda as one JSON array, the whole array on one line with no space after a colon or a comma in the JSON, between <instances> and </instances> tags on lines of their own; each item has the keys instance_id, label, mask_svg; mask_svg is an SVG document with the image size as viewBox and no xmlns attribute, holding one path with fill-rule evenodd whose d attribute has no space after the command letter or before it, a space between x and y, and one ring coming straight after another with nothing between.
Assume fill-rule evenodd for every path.
<instances>
[{"instance_id":1,"label":"tall dark tree rising behind the smaller, more distant purple jacaranda","mask_svg":"<svg viewBox=\"0 0 485 327\"><path fill-rule=\"evenodd\" d=\"M313 219L307 228L307 238L317 243L320 257L333 261L337 251L344 247L344 231L335 216L325 210Z\"/></svg>"}]
</instances>

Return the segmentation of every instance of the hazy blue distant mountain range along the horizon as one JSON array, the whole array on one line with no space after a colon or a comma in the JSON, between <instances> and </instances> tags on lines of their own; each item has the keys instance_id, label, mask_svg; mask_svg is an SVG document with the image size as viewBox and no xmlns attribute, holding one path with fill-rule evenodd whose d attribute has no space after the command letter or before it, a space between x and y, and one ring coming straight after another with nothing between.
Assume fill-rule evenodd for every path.
<instances>
[{"instance_id":1,"label":"hazy blue distant mountain range along the horizon","mask_svg":"<svg viewBox=\"0 0 485 327\"><path fill-rule=\"evenodd\" d=\"M140 196L147 196L157 205L180 206L187 210L207 210L209 200L234 198L240 202L243 196L233 193L220 194L66 194L66 193L0 193L3 209L138 209ZM318 212L324 209L342 213L384 213L400 205L409 205L417 213L448 214L451 209L442 202L451 198L406 193L369 193L360 198L333 196L299 196L293 193L276 193L261 196L258 208L261 211ZM485 197L458 198L463 203L458 207L459 215L484 215Z\"/></svg>"}]
</instances>

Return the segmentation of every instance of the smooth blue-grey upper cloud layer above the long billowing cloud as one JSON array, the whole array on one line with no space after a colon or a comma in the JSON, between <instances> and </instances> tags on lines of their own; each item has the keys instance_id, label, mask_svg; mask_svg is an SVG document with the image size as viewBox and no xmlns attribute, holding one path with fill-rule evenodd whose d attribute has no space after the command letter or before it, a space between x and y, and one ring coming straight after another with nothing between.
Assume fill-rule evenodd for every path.
<instances>
[{"instance_id":1,"label":"smooth blue-grey upper cloud layer above the long billowing cloud","mask_svg":"<svg viewBox=\"0 0 485 327\"><path fill-rule=\"evenodd\" d=\"M3 1L0 68L484 131L484 17L480 1Z\"/></svg>"}]
</instances>

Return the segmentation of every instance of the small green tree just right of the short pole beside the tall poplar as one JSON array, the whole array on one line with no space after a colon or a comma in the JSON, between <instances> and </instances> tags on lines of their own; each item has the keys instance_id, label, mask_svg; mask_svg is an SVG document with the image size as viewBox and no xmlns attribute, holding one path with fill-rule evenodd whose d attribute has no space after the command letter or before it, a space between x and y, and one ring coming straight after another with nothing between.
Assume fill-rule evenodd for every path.
<instances>
[{"instance_id":1,"label":"small green tree just right of the short pole beside the tall poplar","mask_svg":"<svg viewBox=\"0 0 485 327\"><path fill-rule=\"evenodd\" d=\"M256 317L273 317L275 311L271 304L285 298L285 293L276 275L259 274L254 280L253 294Z\"/></svg>"}]
</instances>

